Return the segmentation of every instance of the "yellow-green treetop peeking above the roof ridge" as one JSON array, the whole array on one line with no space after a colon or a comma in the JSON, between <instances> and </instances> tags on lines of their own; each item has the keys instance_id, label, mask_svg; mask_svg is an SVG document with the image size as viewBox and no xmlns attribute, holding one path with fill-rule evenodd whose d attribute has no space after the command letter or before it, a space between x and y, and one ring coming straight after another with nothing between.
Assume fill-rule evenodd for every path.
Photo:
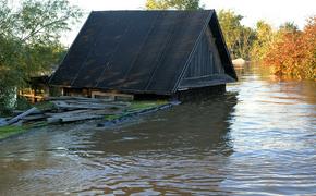
<instances>
[{"instance_id":1,"label":"yellow-green treetop peeking above the roof ridge","mask_svg":"<svg viewBox=\"0 0 316 196\"><path fill-rule=\"evenodd\" d=\"M199 5L199 0L147 0L146 8L148 10L198 10L203 7Z\"/></svg>"}]
</instances>

